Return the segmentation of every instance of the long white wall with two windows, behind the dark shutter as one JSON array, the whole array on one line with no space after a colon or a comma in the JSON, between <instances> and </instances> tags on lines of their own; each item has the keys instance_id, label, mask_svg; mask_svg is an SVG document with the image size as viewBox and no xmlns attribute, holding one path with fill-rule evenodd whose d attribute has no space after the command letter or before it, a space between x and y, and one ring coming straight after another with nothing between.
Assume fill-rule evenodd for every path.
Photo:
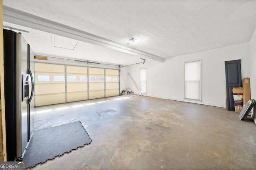
<instances>
[{"instance_id":1,"label":"long white wall with two windows, behind the dark shutter","mask_svg":"<svg viewBox=\"0 0 256 170\"><path fill-rule=\"evenodd\" d=\"M202 59L202 102L184 99L184 62L197 59ZM226 107L224 62L237 59L241 59L242 78L248 77L250 74L249 43L182 55L164 63L146 60L145 64L128 66L126 71L139 84L139 69L147 68L148 96ZM127 76L127 72L123 70L123 75ZM125 86L122 85L122 87ZM139 94L130 78L128 83L126 82L127 88Z\"/></svg>"}]
</instances>

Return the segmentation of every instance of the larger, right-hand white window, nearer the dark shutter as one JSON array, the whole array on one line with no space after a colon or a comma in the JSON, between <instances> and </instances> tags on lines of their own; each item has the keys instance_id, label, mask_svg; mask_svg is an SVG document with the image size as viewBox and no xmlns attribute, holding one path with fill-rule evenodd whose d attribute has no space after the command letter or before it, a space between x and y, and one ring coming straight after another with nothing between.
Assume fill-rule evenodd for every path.
<instances>
[{"instance_id":1,"label":"larger, right-hand white window, nearer the dark shutter","mask_svg":"<svg viewBox=\"0 0 256 170\"><path fill-rule=\"evenodd\" d=\"M201 100L202 60L185 62L184 98Z\"/></svg>"}]
</instances>

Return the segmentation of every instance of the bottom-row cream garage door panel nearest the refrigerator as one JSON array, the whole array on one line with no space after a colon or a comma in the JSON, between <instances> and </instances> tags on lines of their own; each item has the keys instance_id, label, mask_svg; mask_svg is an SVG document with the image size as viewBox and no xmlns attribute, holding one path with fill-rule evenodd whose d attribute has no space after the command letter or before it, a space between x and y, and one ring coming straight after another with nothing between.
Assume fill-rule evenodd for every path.
<instances>
[{"instance_id":1,"label":"bottom-row cream garage door panel nearest the refrigerator","mask_svg":"<svg viewBox=\"0 0 256 170\"><path fill-rule=\"evenodd\" d=\"M36 106L65 103L65 93L36 95Z\"/></svg>"}]
</instances>

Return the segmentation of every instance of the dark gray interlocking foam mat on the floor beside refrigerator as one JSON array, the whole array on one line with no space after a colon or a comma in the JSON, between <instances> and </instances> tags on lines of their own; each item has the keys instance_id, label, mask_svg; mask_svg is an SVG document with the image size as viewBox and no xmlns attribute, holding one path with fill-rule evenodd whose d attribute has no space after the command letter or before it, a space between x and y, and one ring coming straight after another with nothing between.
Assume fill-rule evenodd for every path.
<instances>
[{"instance_id":1,"label":"dark gray interlocking foam mat on the floor beside refrigerator","mask_svg":"<svg viewBox=\"0 0 256 170\"><path fill-rule=\"evenodd\" d=\"M23 162L26 168L32 168L91 142L80 121L34 131Z\"/></svg>"}]
</instances>

